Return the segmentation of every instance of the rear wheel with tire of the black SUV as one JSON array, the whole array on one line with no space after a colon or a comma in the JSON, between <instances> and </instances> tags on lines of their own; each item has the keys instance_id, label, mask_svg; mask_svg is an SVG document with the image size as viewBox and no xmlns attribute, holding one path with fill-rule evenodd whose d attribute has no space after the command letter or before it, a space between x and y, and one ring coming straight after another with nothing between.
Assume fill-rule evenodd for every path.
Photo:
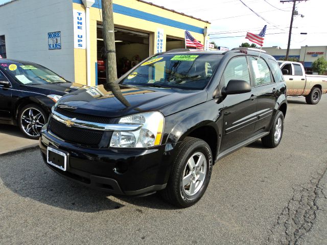
<instances>
[{"instance_id":1,"label":"rear wheel with tire of the black SUV","mask_svg":"<svg viewBox=\"0 0 327 245\"><path fill-rule=\"evenodd\" d=\"M284 131L284 114L281 111L276 111L273 125L269 134L261 138L261 142L268 148L275 148L282 140Z\"/></svg>"}]
</instances>

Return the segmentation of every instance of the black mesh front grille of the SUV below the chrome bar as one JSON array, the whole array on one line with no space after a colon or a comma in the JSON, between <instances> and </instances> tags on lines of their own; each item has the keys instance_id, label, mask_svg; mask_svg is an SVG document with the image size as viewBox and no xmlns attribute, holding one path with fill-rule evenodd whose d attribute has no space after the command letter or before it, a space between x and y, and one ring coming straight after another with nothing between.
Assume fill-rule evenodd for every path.
<instances>
[{"instance_id":1,"label":"black mesh front grille of the SUV below the chrome bar","mask_svg":"<svg viewBox=\"0 0 327 245\"><path fill-rule=\"evenodd\" d=\"M62 122L50 118L48 129L61 139L83 145L99 145L104 131L67 127Z\"/></svg>"}]
</instances>

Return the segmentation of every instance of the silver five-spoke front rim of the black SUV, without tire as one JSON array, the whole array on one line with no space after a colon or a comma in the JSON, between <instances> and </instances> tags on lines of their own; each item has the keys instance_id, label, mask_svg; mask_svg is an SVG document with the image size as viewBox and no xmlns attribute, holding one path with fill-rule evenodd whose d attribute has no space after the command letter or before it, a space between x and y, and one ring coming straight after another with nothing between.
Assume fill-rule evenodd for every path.
<instances>
[{"instance_id":1,"label":"silver five-spoke front rim of the black SUV, without tire","mask_svg":"<svg viewBox=\"0 0 327 245\"><path fill-rule=\"evenodd\" d=\"M206 158L201 152L196 152L189 158L181 181L185 194L195 195L199 192L206 176L206 165Z\"/></svg>"}]
</instances>

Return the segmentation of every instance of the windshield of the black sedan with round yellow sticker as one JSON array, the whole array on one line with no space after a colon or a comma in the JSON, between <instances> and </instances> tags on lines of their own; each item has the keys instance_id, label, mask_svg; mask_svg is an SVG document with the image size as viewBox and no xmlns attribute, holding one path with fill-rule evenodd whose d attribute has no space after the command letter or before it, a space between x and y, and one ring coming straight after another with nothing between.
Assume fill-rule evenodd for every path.
<instances>
[{"instance_id":1,"label":"windshield of the black sedan with round yellow sticker","mask_svg":"<svg viewBox=\"0 0 327 245\"><path fill-rule=\"evenodd\" d=\"M2 63L0 67L10 74L18 83L26 85L66 83L59 75L34 63Z\"/></svg>"}]
</instances>

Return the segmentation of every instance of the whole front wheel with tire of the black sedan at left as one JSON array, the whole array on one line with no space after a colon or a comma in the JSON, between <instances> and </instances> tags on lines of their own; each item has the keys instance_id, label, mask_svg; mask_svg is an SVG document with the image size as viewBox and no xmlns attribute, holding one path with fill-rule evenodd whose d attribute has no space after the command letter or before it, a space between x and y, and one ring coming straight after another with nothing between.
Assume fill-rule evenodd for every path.
<instances>
[{"instance_id":1,"label":"whole front wheel with tire of the black sedan at left","mask_svg":"<svg viewBox=\"0 0 327 245\"><path fill-rule=\"evenodd\" d=\"M19 129L30 139L40 137L41 128L48 121L45 111L36 104L29 104L20 109L17 116Z\"/></svg>"}]
</instances>

